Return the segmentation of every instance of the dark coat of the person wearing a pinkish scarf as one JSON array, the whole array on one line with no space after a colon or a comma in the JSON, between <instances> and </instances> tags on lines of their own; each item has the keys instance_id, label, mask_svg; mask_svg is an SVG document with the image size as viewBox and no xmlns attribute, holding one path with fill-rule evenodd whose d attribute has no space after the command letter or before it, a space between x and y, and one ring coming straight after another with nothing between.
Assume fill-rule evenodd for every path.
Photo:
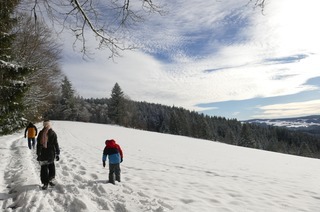
<instances>
[{"instance_id":1,"label":"dark coat of the person wearing a pinkish scarf","mask_svg":"<svg viewBox=\"0 0 320 212\"><path fill-rule=\"evenodd\" d=\"M60 148L58 144L57 134L52 130L48 130L48 142L47 148L41 144L42 134L44 133L45 128L43 128L37 137L37 155L38 161L47 161L51 163L56 158L56 155L60 154Z\"/></svg>"}]
</instances>

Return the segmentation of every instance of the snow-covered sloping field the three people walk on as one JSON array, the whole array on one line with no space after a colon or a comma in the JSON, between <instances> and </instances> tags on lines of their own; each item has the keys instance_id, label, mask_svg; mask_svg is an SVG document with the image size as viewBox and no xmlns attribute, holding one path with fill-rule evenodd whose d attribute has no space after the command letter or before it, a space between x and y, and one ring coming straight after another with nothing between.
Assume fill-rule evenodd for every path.
<instances>
[{"instance_id":1,"label":"snow-covered sloping field the three people walk on","mask_svg":"<svg viewBox=\"0 0 320 212\"><path fill-rule=\"evenodd\" d=\"M0 137L1 211L320 211L317 159L110 125L53 121L53 129L61 159L47 191L23 131ZM111 138L124 153L116 185L101 162Z\"/></svg>"}]
</instances>

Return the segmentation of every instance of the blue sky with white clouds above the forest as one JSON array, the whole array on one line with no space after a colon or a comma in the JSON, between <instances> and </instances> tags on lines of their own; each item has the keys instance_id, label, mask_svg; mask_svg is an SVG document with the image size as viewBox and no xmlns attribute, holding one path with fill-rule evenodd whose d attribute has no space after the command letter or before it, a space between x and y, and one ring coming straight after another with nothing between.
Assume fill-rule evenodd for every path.
<instances>
[{"instance_id":1,"label":"blue sky with white clouds above the forest","mask_svg":"<svg viewBox=\"0 0 320 212\"><path fill-rule=\"evenodd\" d=\"M247 120L320 113L318 0L162 0L130 29L139 46L89 61L64 37L62 69L79 95L110 97L116 82L136 101ZM95 46L95 39L87 43Z\"/></svg>"}]
</instances>

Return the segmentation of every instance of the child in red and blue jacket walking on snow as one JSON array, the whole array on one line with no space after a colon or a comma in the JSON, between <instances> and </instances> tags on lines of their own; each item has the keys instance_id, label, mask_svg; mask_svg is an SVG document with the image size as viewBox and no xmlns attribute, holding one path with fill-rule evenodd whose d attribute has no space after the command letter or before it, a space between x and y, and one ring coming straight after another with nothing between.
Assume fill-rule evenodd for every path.
<instances>
[{"instance_id":1,"label":"child in red and blue jacket walking on snow","mask_svg":"<svg viewBox=\"0 0 320 212\"><path fill-rule=\"evenodd\" d=\"M121 147L116 144L116 141L106 140L106 146L103 150L102 164L106 166L107 157L109 159L109 183L115 184L114 175L116 181L120 182L120 163L123 161L123 153Z\"/></svg>"}]
</instances>

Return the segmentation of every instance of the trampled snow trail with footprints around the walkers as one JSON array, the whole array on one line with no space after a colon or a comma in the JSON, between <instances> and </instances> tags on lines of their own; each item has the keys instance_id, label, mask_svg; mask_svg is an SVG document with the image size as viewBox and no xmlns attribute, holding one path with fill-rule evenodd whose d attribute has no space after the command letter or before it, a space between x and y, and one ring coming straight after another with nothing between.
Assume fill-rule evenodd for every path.
<instances>
[{"instance_id":1,"label":"trampled snow trail with footprints around the walkers","mask_svg":"<svg viewBox=\"0 0 320 212\"><path fill-rule=\"evenodd\" d=\"M66 131L64 133L66 138L73 136ZM100 161L97 157L101 158L102 151L89 144L76 146L78 148L75 149L69 149L69 146L61 148L61 160L55 163L58 183L43 191L40 188L40 166L36 161L35 150L27 148L24 138L12 141L4 170L4 184L7 185L8 194L0 196L4 200L1 207L3 211L126 212L164 211L165 208L171 208L163 201L149 198L147 194L135 191L125 183L108 184L108 171L102 169L101 164L92 164L86 157L81 157L93 153L95 161ZM89 171L86 167L98 171Z\"/></svg>"}]
</instances>

